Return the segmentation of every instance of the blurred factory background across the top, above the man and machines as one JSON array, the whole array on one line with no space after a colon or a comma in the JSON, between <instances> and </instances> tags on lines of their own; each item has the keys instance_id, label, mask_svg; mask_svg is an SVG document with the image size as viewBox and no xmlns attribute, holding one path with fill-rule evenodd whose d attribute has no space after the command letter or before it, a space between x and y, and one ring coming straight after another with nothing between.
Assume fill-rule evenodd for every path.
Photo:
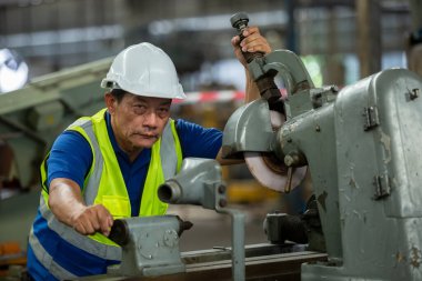
<instances>
[{"instance_id":1,"label":"blurred factory background across the top, above the man and machines","mask_svg":"<svg viewBox=\"0 0 422 281\"><path fill-rule=\"evenodd\" d=\"M150 41L174 60L188 92L209 84L242 87L232 78L239 73L231 68L239 66L231 64L234 32L228 19L247 11L274 49L292 50L322 72L316 83L344 84L405 66L406 41L418 30L413 2L414 9L412 1L394 0L2 0L0 44L28 64L31 79Z\"/></svg>"}]
</instances>

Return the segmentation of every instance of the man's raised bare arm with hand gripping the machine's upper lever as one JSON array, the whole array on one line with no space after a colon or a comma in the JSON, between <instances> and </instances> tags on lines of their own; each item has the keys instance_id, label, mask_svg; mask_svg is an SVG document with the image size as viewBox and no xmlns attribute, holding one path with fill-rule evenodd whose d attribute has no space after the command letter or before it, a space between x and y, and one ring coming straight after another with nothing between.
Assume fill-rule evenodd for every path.
<instances>
[{"instance_id":1,"label":"man's raised bare arm with hand gripping the machine's upper lever","mask_svg":"<svg viewBox=\"0 0 422 281\"><path fill-rule=\"evenodd\" d=\"M268 43L267 39L263 38L257 27L249 27L243 31L244 39L240 42L239 36L233 37L231 40L231 43L234 49L234 54L244 67L245 77L247 77L247 87L245 87L245 98L244 101L251 102L253 100L257 100L261 97L259 89L257 87L255 81L253 80L252 76L249 73L248 63L243 58L243 52L263 52L263 53L270 53L271 47ZM217 154L215 160L222 164L239 164L243 163L243 160L233 160L233 159L222 159L221 158L221 149L219 153Z\"/></svg>"}]
</instances>

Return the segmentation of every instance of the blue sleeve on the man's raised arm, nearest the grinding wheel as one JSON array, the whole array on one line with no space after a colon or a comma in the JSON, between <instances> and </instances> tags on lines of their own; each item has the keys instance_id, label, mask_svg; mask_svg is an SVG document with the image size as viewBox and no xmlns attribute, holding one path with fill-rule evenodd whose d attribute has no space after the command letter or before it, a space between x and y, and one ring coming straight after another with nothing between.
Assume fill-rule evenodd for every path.
<instances>
[{"instance_id":1,"label":"blue sleeve on the man's raised arm, nearest the grinding wheel","mask_svg":"<svg viewBox=\"0 0 422 281\"><path fill-rule=\"evenodd\" d=\"M214 128L203 128L199 124L179 119L175 126L182 147L183 158L215 159L222 144L223 133Z\"/></svg>"}]
</instances>

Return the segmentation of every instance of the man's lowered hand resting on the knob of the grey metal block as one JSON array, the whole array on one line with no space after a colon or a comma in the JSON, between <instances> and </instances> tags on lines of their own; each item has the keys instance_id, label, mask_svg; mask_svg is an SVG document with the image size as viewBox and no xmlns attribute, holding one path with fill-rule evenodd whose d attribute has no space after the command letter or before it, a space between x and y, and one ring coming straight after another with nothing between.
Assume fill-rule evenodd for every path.
<instances>
[{"instance_id":1,"label":"man's lowered hand resting on the knob of the grey metal block","mask_svg":"<svg viewBox=\"0 0 422 281\"><path fill-rule=\"evenodd\" d=\"M101 232L108 237L113 225L113 218L102 204L83 205L83 208L73 212L70 221L73 229L84 235Z\"/></svg>"}]
</instances>

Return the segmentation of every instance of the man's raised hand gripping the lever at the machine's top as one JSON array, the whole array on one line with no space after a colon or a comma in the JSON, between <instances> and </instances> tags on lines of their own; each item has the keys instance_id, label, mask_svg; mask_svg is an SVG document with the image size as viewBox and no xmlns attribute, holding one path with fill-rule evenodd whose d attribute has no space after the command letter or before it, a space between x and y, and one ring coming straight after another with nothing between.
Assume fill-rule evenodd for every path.
<instances>
[{"instance_id":1,"label":"man's raised hand gripping the lever at the machine's top","mask_svg":"<svg viewBox=\"0 0 422 281\"><path fill-rule=\"evenodd\" d=\"M258 27L248 27L243 30L244 39L240 42L240 37L235 36L231 39L231 44L234 48L234 54L238 60L247 67L247 61L243 58L243 52L262 52L264 54L271 52L271 47L267 39L261 36Z\"/></svg>"}]
</instances>

